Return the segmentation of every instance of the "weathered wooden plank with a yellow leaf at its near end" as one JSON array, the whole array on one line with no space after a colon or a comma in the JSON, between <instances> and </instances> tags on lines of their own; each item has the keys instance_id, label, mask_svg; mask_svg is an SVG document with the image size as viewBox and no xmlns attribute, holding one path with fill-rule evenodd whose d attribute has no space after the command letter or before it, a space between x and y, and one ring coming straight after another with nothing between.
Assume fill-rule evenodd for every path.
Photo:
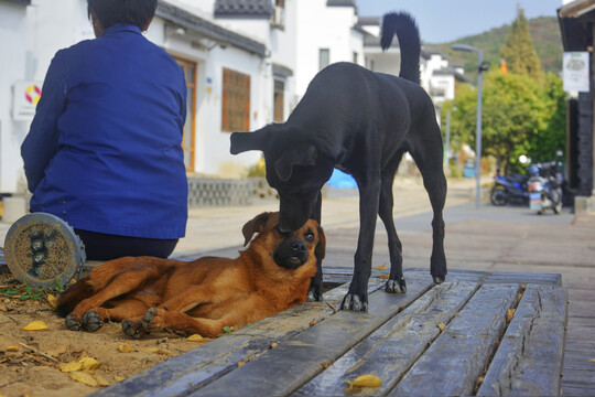
<instances>
[{"instance_id":1,"label":"weathered wooden plank with a yellow leaf at its near end","mask_svg":"<svg viewBox=\"0 0 595 397\"><path fill-rule=\"evenodd\" d=\"M382 385L357 395L383 395L437 337L437 325L447 324L477 288L456 281L432 288L292 396L342 396L345 379L365 374L377 375Z\"/></svg>"}]
</instances>

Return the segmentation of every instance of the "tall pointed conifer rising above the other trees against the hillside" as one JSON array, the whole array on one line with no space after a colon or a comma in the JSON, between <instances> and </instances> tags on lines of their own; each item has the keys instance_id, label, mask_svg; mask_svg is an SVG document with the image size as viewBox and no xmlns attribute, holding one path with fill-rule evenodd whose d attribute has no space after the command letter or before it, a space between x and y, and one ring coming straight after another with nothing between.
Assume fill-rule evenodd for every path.
<instances>
[{"instance_id":1,"label":"tall pointed conifer rising above the other trees against the hillside","mask_svg":"<svg viewBox=\"0 0 595 397\"><path fill-rule=\"evenodd\" d=\"M500 50L500 55L511 73L533 78L542 76L541 62L529 32L529 23L524 17L524 10L520 7L517 9L517 19L512 22L506 43Z\"/></svg>"}]
</instances>

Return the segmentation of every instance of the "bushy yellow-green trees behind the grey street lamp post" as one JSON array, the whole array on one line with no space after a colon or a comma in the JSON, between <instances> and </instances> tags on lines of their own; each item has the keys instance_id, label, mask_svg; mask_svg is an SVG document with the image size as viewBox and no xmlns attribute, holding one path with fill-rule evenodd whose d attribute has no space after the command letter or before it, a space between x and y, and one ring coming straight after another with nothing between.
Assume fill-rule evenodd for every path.
<instances>
[{"instance_id":1,"label":"bushy yellow-green trees behind the grey street lamp post","mask_svg":"<svg viewBox=\"0 0 595 397\"><path fill-rule=\"evenodd\" d=\"M475 148L475 88L459 86L455 100L444 105L443 114L447 111L452 112L452 140ZM500 71L485 74L482 154L493 155L502 172L521 171L521 154L534 161L553 159L564 147L564 93L555 75L549 74L541 84L527 75Z\"/></svg>"}]
</instances>

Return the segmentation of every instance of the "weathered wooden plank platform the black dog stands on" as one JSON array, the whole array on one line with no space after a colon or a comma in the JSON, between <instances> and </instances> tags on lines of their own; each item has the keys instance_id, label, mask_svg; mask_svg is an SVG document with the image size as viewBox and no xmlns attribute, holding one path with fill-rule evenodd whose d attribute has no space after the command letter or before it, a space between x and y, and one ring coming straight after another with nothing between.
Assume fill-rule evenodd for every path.
<instances>
[{"instance_id":1,"label":"weathered wooden plank platform the black dog stands on","mask_svg":"<svg viewBox=\"0 0 595 397\"><path fill-rule=\"evenodd\" d=\"M455 270L434 286L426 269L405 269L408 292L391 294L381 272L370 280L367 313L333 309L350 275L325 267L327 285L344 282L325 292L329 304L292 308L94 396L560 394L567 318L560 275ZM346 389L364 374L381 386Z\"/></svg>"}]
</instances>

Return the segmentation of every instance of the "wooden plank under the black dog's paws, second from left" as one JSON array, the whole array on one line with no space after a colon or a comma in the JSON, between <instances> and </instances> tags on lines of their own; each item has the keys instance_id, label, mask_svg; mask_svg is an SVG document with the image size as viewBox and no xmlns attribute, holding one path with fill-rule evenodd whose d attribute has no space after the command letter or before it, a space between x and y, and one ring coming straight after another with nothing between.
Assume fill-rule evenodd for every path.
<instances>
[{"instance_id":1,"label":"wooden plank under the black dog's paws, second from left","mask_svg":"<svg viewBox=\"0 0 595 397\"><path fill-rule=\"evenodd\" d=\"M340 311L190 396L289 395L431 286L431 281L410 279L407 294L377 291L369 297L368 313Z\"/></svg>"}]
</instances>

